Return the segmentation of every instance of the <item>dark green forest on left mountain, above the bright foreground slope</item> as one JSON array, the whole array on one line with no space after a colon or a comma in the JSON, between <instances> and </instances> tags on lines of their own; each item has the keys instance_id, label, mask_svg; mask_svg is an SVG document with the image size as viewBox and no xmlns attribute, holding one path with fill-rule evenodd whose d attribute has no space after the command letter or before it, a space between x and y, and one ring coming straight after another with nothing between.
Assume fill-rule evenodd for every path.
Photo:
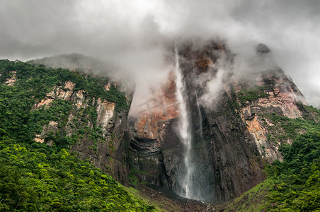
<instances>
[{"instance_id":1,"label":"dark green forest on left mountain, above the bright foreground slope","mask_svg":"<svg viewBox=\"0 0 320 212\"><path fill-rule=\"evenodd\" d=\"M10 136L19 141L32 141L35 134L41 133L42 126L50 121L59 121L60 129L67 124L67 117L72 108L72 102L68 100L55 100L50 107L33 110L35 103L45 98L55 86L61 86L67 81L75 83L74 90L85 90L90 98L115 102L118 110L127 110L129 107L125 94L118 88L112 85L108 91L103 88L108 83L108 78L95 78L67 69L50 69L42 65L8 60L0 60L0 74L0 135ZM13 86L6 85L8 78L13 76L16 78ZM93 129L87 129L86 123L78 126L77 122L74 122L77 129L84 129L72 136L65 136L63 131L59 135L52 134L50 139L55 145L66 148L78 141L84 132L93 140L99 137L99 129L95 123L96 110L89 105L85 110L82 113L93 122Z\"/></svg>"}]
</instances>

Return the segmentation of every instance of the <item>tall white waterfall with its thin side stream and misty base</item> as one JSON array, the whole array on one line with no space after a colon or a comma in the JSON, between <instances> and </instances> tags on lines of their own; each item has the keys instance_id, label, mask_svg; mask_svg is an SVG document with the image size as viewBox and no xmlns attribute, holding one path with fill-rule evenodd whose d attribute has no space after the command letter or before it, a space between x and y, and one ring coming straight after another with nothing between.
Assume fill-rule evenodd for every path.
<instances>
[{"instance_id":1,"label":"tall white waterfall with its thin side stream and misty base","mask_svg":"<svg viewBox=\"0 0 320 212\"><path fill-rule=\"evenodd\" d=\"M195 138L193 130L193 117L190 116L190 107L188 107L187 88L185 79L181 72L178 47L175 46L176 59L176 97L178 100L178 109L180 119L178 122L178 137L183 145L183 153L181 164L176 173L177 185L173 187L173 191L180 196L188 199L197 199L201 201L212 202L214 198L214 171L209 160L208 148L197 148L193 144ZM199 113L200 121L200 143L205 142L202 137L202 118L198 96L195 94L195 100Z\"/></svg>"}]
</instances>

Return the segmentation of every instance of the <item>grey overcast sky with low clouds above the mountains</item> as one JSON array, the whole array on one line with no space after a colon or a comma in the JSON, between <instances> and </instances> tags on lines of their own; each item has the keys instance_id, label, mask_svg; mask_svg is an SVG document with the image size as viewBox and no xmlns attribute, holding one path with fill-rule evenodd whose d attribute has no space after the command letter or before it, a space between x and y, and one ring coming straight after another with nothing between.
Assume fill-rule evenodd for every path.
<instances>
[{"instance_id":1,"label":"grey overcast sky with low clouds above the mountains","mask_svg":"<svg viewBox=\"0 0 320 212\"><path fill-rule=\"evenodd\" d=\"M78 52L147 78L164 66L161 44L190 36L220 37L236 54L268 45L320 106L319 0L0 0L0 58Z\"/></svg>"}]
</instances>

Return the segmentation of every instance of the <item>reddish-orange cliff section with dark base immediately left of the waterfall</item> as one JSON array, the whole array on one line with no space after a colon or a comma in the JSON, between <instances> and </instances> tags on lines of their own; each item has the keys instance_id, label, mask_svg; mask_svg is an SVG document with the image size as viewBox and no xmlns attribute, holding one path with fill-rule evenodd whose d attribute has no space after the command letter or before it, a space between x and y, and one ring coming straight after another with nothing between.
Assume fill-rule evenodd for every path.
<instances>
[{"instance_id":1,"label":"reddish-orange cliff section with dark base immediately left of the waterfall","mask_svg":"<svg viewBox=\"0 0 320 212\"><path fill-rule=\"evenodd\" d=\"M178 160L181 155L170 153L176 147L181 148L173 130L178 117L176 83L169 80L155 95L156 98L142 103L139 117L131 120L131 167L139 170L136 175L140 180L170 189L172 181L168 179L166 160Z\"/></svg>"}]
</instances>

